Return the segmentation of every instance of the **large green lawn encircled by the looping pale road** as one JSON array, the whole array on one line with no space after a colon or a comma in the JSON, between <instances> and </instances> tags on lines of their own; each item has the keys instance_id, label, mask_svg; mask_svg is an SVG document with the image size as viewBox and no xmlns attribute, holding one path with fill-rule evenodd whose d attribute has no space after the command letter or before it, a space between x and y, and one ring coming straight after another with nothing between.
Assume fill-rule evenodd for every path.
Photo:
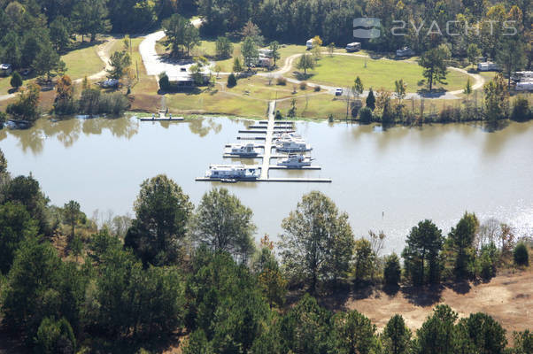
<instances>
[{"instance_id":1,"label":"large green lawn encircled by the looping pale road","mask_svg":"<svg viewBox=\"0 0 533 354\"><path fill-rule=\"evenodd\" d=\"M365 67L367 62L367 67ZM394 90L394 81L404 79L408 92L416 92L424 89L422 81L422 68L413 63L401 61L346 57L346 56L323 56L319 65L311 72L308 81L325 85L348 87L353 85L356 76L359 75L365 89L389 89ZM467 75L450 70L447 76L447 85L435 85L435 89L443 88L455 90L464 88Z\"/></svg>"}]
</instances>

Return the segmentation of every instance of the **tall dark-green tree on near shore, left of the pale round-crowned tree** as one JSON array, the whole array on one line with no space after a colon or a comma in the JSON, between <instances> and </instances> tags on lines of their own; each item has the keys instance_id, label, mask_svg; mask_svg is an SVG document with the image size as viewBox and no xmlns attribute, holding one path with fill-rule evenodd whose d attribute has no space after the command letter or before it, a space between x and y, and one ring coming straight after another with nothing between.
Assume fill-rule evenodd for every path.
<instances>
[{"instance_id":1,"label":"tall dark-green tree on near shore, left of the pale round-crowned tree","mask_svg":"<svg viewBox=\"0 0 533 354\"><path fill-rule=\"evenodd\" d=\"M144 264L167 265L179 260L193 205L182 188L166 175L143 181L135 200L135 219L124 245Z\"/></svg>"}]
</instances>

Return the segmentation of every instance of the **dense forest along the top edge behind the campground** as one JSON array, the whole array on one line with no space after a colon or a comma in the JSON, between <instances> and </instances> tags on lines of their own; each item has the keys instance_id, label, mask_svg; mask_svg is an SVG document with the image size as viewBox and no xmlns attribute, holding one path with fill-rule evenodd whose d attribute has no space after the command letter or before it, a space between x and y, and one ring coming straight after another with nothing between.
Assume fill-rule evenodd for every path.
<instances>
[{"instance_id":1,"label":"dense forest along the top edge behind the campground","mask_svg":"<svg viewBox=\"0 0 533 354\"><path fill-rule=\"evenodd\" d=\"M381 19L381 36L364 43L374 50L408 45L424 52L445 43L454 58L483 55L513 70L531 66L531 3L522 0L3 0L1 58L28 67L66 50L73 35L94 41L109 32L146 33L173 13L199 15L205 35L239 35L251 21L268 40L302 43L320 35L324 45L340 46L353 40L353 19L375 17ZM394 22L400 20L403 26ZM392 35L394 27L402 27L397 33L403 35Z\"/></svg>"}]
</instances>

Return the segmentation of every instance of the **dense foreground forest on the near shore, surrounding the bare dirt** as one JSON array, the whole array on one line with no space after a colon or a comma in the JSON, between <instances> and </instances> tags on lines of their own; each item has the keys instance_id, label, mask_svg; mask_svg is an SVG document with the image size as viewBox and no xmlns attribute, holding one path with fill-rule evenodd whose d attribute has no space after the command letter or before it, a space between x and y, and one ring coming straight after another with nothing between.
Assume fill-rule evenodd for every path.
<instances>
[{"instance_id":1,"label":"dense foreground forest on the near shore, surrounding the bare dirt","mask_svg":"<svg viewBox=\"0 0 533 354\"><path fill-rule=\"evenodd\" d=\"M195 207L158 175L143 182L134 210L134 219L98 227L75 201L51 205L33 176L11 176L0 151L3 331L38 353L147 353L178 341L189 354L533 350L529 330L506 336L491 316L459 319L445 304L413 332L399 314L378 331L362 313L320 304L348 283L394 292L528 266L530 240L494 219L466 212L448 235L421 221L406 236L402 266L381 255L382 232L356 238L320 192L282 220L275 245L254 241L251 209L227 189Z\"/></svg>"}]
</instances>

